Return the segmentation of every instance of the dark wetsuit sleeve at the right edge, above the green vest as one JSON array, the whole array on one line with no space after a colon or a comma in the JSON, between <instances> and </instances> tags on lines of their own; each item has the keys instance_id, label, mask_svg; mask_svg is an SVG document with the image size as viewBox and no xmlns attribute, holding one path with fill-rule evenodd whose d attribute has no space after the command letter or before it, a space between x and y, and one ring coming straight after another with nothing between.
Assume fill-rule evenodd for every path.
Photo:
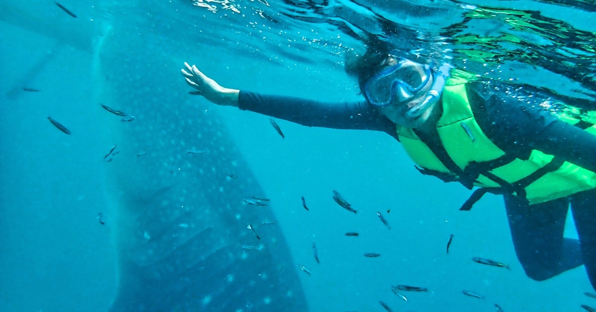
<instances>
[{"instance_id":1,"label":"dark wetsuit sleeve at the right edge, above the green vest","mask_svg":"<svg viewBox=\"0 0 596 312\"><path fill-rule=\"evenodd\" d=\"M476 121L496 146L520 159L540 150L596 172L596 135L541 108L547 95L518 92L511 96L506 88L474 82L467 87Z\"/></svg>"}]
</instances>

